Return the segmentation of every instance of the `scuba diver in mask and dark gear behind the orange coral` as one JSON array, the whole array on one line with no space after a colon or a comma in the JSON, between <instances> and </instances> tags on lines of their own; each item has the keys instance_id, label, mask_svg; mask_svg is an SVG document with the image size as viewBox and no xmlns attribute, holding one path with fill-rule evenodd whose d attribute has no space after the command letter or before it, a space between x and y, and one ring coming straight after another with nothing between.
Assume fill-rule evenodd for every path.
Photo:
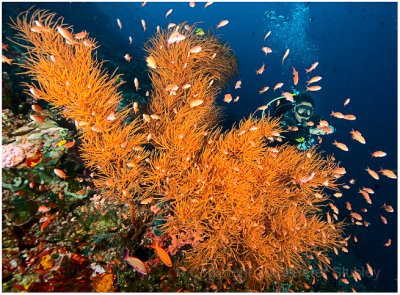
<instances>
[{"instance_id":1,"label":"scuba diver in mask and dark gear behind the orange coral","mask_svg":"<svg viewBox=\"0 0 400 295\"><path fill-rule=\"evenodd\" d=\"M270 115L275 118L281 117L280 125L284 130L289 131L282 136L282 143L288 142L290 145L297 146L299 150L305 151L319 141L320 135L333 133L335 129L331 125L321 127L321 117L314 114L315 102L311 95L295 91L293 98L293 102L286 100L283 96L269 102L271 104L281 100L275 109L270 111Z\"/></svg>"}]
</instances>

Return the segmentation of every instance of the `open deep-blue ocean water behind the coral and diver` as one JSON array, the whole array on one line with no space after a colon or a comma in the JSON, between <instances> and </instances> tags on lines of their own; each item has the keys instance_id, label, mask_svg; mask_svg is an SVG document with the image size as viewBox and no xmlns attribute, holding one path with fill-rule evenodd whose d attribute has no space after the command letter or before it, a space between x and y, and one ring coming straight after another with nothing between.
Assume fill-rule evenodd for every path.
<instances>
[{"instance_id":1,"label":"open deep-blue ocean water behind the coral and diver","mask_svg":"<svg viewBox=\"0 0 400 295\"><path fill-rule=\"evenodd\" d=\"M344 260L348 259L349 264L363 268L364 272L366 262L376 269L375 277L363 278L367 290L397 290L397 180L381 176L375 181L365 171L368 166L397 172L398 167L397 3L217 2L207 8L204 3L196 3L194 8L188 3L160 2L150 2L144 7L138 2L3 3L3 31L9 16L15 17L33 4L63 16L77 32L89 31L101 44L100 56L120 66L132 88L133 77L142 75L146 69L143 43L155 33L157 25L166 27L170 22L188 21L204 30L212 28L230 45L239 63L237 78L218 98L218 104L226 107L223 124L227 127L280 96L282 91L290 91L292 67L299 71L300 82L296 87L299 91L305 90L306 80L312 76L322 76L317 83L322 89L311 94L316 100L317 112L329 120L336 132L324 137L321 150L334 154L346 168L343 183L352 178L356 180L335 201L341 212L346 212L346 201L358 212L366 207L368 212L364 216L370 222L369 227L348 226L348 234L355 234L358 242L353 242L353 237L349 240L350 253ZM166 18L170 8L173 12ZM122 22L121 30L117 18ZM145 32L141 19L147 23ZM229 24L216 30L223 19L229 20ZM264 40L268 31L271 35ZM129 36L132 36L132 45ZM273 52L265 56L261 51L263 46L272 48ZM282 56L288 48L290 53L282 65ZM129 65L123 59L125 53L133 57ZM318 67L306 75L304 69L316 61ZM263 63L264 74L256 75L255 71ZM237 80L242 81L240 89L234 89ZM284 86L274 92L272 88L278 82ZM266 85L270 89L260 95L258 91ZM240 99L226 105L222 101L224 93L239 95ZM351 101L344 107L346 98ZM354 114L357 119L335 119L330 116L332 111ZM352 129L362 133L367 141L365 145L351 139ZM346 143L349 152L337 149L332 145L333 140ZM370 154L376 150L385 151L387 156L371 158ZM372 205L367 205L358 193L363 186L375 191L371 196ZM383 203L391 204L395 213L386 213L381 208ZM381 222L380 215L387 218L387 225ZM349 222L348 217L346 221ZM392 245L384 247L388 238Z\"/></svg>"}]
</instances>

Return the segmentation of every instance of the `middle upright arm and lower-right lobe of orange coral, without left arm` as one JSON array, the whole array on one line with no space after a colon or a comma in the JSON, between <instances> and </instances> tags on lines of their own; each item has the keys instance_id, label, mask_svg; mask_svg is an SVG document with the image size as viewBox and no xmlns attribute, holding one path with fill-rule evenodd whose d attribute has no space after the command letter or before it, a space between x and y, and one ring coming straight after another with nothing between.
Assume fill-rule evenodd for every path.
<instances>
[{"instance_id":1,"label":"middle upright arm and lower-right lobe of orange coral, without left arm","mask_svg":"<svg viewBox=\"0 0 400 295\"><path fill-rule=\"evenodd\" d=\"M314 150L268 148L279 139L276 120L250 117L225 134L213 129L218 118L211 115L207 123L207 116L218 113L220 88L209 85L224 77L221 65L234 60L228 49L216 51L213 38L192 31L182 30L187 39L167 47L173 32L162 32L147 47L157 61L151 110L161 117L153 122L160 153L151 156L148 182L171 208L164 230L181 246L192 246L186 252L191 269L206 276L211 271L221 281L272 286L307 271L311 256L329 268L328 252L341 245L342 230L324 220L321 206L328 200L323 191L335 189L337 165ZM188 60L195 46L202 50ZM179 88L171 93L168 85ZM191 108L196 97L204 97L205 105Z\"/></svg>"}]
</instances>

